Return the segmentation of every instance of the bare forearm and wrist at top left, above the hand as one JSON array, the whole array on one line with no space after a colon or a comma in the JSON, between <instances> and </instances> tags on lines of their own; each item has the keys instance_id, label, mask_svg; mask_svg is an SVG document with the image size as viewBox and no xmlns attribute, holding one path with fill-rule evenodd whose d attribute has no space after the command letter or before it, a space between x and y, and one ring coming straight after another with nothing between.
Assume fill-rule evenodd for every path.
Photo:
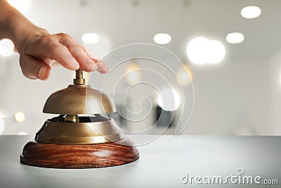
<instances>
[{"instance_id":1,"label":"bare forearm and wrist at top left, above the hand","mask_svg":"<svg viewBox=\"0 0 281 188\"><path fill-rule=\"evenodd\" d=\"M6 0L0 0L0 39L11 39L15 48L21 49L20 45L25 44L25 40L46 34L48 31L31 23Z\"/></svg>"}]
</instances>

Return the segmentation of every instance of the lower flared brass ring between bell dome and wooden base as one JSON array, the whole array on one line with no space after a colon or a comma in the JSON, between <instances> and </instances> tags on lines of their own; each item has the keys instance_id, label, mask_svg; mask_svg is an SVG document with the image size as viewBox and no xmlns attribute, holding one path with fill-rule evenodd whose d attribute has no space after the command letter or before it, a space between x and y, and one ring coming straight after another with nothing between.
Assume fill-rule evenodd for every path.
<instances>
[{"instance_id":1,"label":"lower flared brass ring between bell dome and wooden base","mask_svg":"<svg viewBox=\"0 0 281 188\"><path fill-rule=\"evenodd\" d=\"M35 141L48 144L98 144L124 138L112 118L93 123L52 122L46 120Z\"/></svg>"}]
</instances>

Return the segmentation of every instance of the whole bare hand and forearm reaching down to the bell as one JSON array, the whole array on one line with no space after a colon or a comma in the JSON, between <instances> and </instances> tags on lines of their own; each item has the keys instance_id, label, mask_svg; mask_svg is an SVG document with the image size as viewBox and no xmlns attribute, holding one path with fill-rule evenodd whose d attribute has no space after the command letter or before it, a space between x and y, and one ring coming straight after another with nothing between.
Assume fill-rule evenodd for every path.
<instances>
[{"instance_id":1,"label":"whole bare hand and forearm reaching down to the bell","mask_svg":"<svg viewBox=\"0 0 281 188\"><path fill-rule=\"evenodd\" d=\"M31 23L6 0L0 0L0 39L4 38L13 41L15 51L20 54L22 74L30 79L48 79L55 61L68 70L109 71L104 61L89 54L70 35L50 34Z\"/></svg>"}]
</instances>

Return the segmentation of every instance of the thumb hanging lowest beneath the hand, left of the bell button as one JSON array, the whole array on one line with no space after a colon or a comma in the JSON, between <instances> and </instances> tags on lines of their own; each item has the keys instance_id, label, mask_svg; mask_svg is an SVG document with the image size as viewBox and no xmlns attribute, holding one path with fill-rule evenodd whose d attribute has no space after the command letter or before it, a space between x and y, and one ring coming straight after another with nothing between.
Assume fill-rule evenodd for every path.
<instances>
[{"instance_id":1,"label":"thumb hanging lowest beneath the hand, left of the bell button","mask_svg":"<svg viewBox=\"0 0 281 188\"><path fill-rule=\"evenodd\" d=\"M50 65L28 55L20 56L20 68L22 74L30 79L46 80L51 73Z\"/></svg>"}]
</instances>

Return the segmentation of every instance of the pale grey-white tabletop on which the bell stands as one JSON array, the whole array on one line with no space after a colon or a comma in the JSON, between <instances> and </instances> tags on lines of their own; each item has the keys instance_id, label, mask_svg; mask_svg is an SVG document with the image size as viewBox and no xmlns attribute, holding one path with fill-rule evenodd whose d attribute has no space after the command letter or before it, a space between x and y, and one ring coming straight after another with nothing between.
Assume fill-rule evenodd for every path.
<instances>
[{"instance_id":1,"label":"pale grey-white tabletop on which the bell stands","mask_svg":"<svg viewBox=\"0 0 281 188\"><path fill-rule=\"evenodd\" d=\"M134 136L140 139L145 136ZM146 136L150 137L150 136ZM281 187L281 137L164 135L139 146L134 163L110 168L61 170L20 164L19 155L33 136L0 136L0 187L242 187L240 184L182 184L189 175L260 175Z\"/></svg>"}]
</instances>

